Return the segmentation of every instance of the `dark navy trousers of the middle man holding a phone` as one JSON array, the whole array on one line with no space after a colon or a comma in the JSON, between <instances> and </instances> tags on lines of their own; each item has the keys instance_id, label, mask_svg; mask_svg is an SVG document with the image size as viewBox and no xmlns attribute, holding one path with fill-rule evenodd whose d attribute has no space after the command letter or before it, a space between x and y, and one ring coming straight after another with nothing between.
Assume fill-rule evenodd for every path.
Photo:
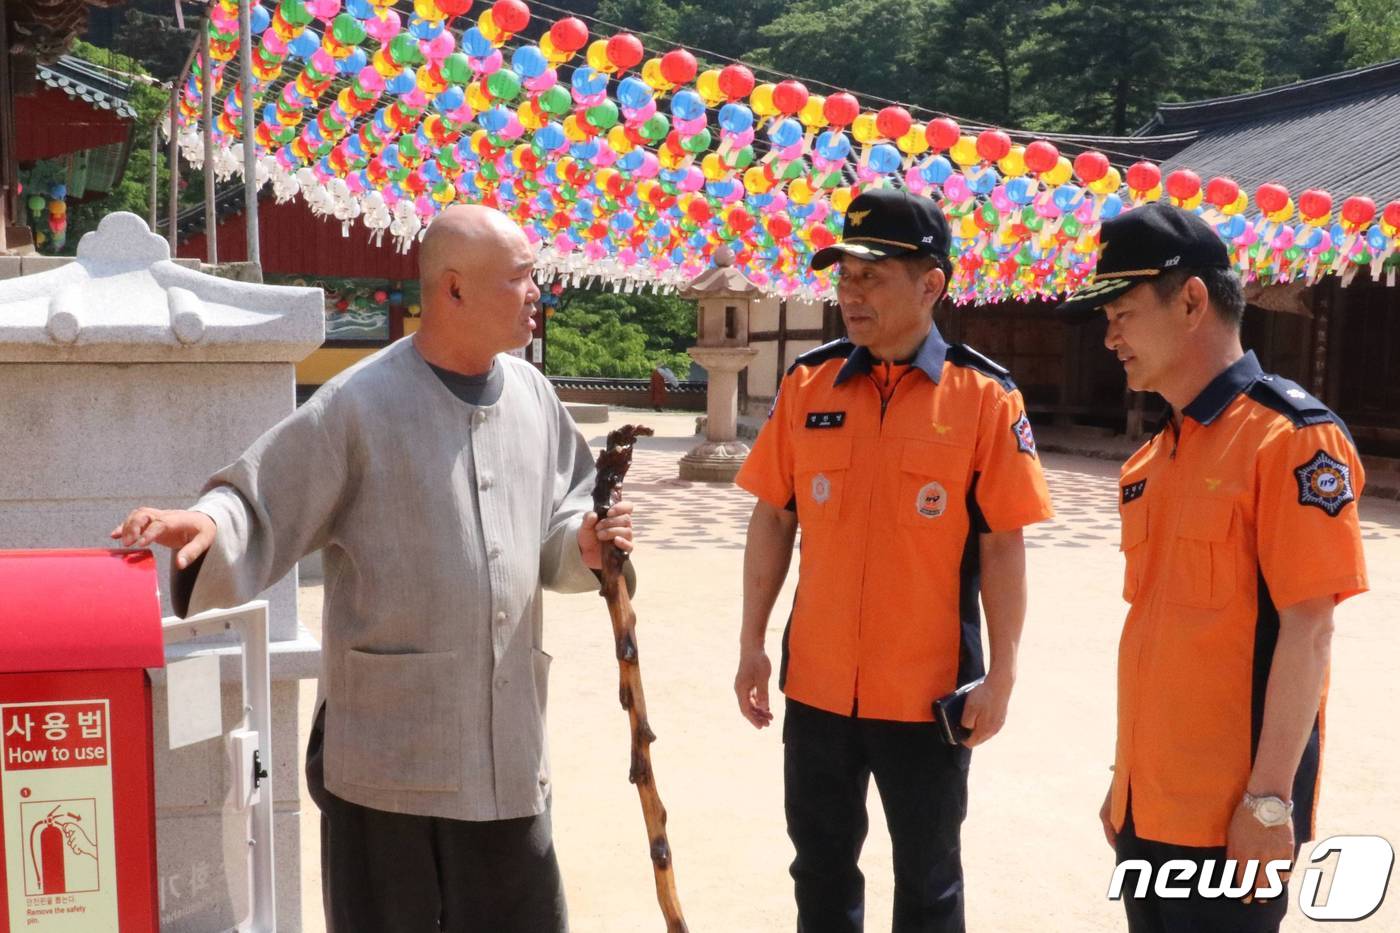
<instances>
[{"instance_id":1,"label":"dark navy trousers of the middle man holding a phone","mask_svg":"<svg viewBox=\"0 0 1400 933\"><path fill-rule=\"evenodd\" d=\"M871 776L895 855L895 933L962 933L972 751L944 744L932 723L837 716L790 699L783 752L798 933L864 930L857 863Z\"/></svg>"}]
</instances>

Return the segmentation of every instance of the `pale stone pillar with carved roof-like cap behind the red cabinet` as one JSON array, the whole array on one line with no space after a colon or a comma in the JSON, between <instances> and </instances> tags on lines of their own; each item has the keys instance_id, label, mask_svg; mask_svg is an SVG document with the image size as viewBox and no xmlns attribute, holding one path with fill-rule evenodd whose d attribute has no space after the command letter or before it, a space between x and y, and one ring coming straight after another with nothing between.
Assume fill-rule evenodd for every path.
<instances>
[{"instance_id":1,"label":"pale stone pillar with carved roof-like cap behind the red cabinet","mask_svg":"<svg viewBox=\"0 0 1400 933\"><path fill-rule=\"evenodd\" d=\"M134 214L104 217L76 261L24 272L0 280L7 548L111 546L108 532L133 507L188 507L293 410L294 364L325 338L319 289L202 275L172 262ZM169 556L161 548L157 558L164 584ZM321 658L297 621L295 572L262 595L272 609L277 927L290 932L301 929L297 699ZM164 593L162 608L169 614ZM234 668L224 670L228 727L241 702ZM242 817L224 814L224 742L171 751L164 678L153 679L161 929L228 929L241 919L246 848Z\"/></svg>"}]
</instances>

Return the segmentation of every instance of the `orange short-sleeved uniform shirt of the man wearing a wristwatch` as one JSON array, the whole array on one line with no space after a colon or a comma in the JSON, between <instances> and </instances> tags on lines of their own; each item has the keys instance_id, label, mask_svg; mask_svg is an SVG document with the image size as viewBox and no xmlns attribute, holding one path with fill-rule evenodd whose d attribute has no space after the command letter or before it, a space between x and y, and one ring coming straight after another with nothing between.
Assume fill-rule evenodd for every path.
<instances>
[{"instance_id":1,"label":"orange short-sleeved uniform shirt of the man wearing a wristwatch","mask_svg":"<svg viewBox=\"0 0 1400 933\"><path fill-rule=\"evenodd\" d=\"M1253 766L1278 611L1366 588L1345 426L1253 353L1217 377L1123 466L1131 604L1119 647L1113 824L1222 846ZM1319 712L1294 783L1312 838Z\"/></svg>"}]
</instances>

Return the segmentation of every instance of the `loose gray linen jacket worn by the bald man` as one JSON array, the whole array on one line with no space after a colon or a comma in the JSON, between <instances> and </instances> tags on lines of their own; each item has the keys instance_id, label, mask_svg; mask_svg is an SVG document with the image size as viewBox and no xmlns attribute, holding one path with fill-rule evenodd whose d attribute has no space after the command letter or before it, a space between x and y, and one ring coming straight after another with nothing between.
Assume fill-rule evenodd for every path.
<instances>
[{"instance_id":1,"label":"loose gray linen jacket worn by the bald man","mask_svg":"<svg viewBox=\"0 0 1400 933\"><path fill-rule=\"evenodd\" d=\"M540 587L598 586L578 552L588 445L549 381L498 356L458 399L405 338L339 374L216 474L218 527L182 614L237 605L323 549L326 787L392 813L545 810ZM293 754L280 749L280 755Z\"/></svg>"}]
</instances>

